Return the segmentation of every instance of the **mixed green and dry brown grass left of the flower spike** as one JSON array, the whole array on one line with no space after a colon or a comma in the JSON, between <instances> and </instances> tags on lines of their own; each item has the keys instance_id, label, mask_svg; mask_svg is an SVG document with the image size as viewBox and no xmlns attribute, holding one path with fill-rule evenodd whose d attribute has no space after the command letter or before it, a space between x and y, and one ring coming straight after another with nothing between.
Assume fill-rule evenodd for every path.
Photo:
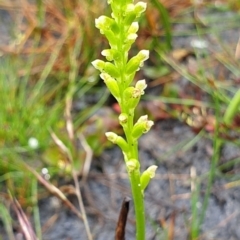
<instances>
[{"instance_id":1,"label":"mixed green and dry brown grass left of the flower spike","mask_svg":"<svg viewBox=\"0 0 240 240\"><path fill-rule=\"evenodd\" d=\"M48 191L55 192L83 218L91 239L77 181L82 170L86 173L81 174L88 174L84 162L89 153L86 149L78 149L76 143L85 141L85 148L98 154L104 147L103 141L101 148L96 146L99 134L103 135L103 122L98 123L91 134L86 130L87 120L108 97L104 90L95 87L97 73L89 65L96 58L99 47L94 35L94 18L90 16L103 6L104 3L91 1L75 4L37 1L35 14L34 5L25 2L22 7L29 9L28 14L24 15L23 11L24 21L15 23L16 26L13 23L10 29L14 33L13 53L3 53L0 57L0 193L3 200L11 195L24 208L32 207L39 239L42 233L37 195L43 189L37 181ZM0 2L0 7L11 12L14 3ZM19 24L25 31L20 32ZM96 96L96 104L86 105L84 111L73 111L73 102L81 102L87 94ZM39 173L43 167L48 169L51 180L57 176L74 179L81 214L51 185L51 180L47 182L41 177ZM14 239L6 202L0 204L1 220L9 239Z\"/></svg>"}]
</instances>

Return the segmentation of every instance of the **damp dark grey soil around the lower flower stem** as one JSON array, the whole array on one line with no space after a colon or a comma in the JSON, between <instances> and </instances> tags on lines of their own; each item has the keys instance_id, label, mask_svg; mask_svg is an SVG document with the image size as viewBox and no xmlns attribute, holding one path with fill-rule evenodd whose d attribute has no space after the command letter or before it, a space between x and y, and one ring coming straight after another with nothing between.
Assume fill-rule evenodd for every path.
<instances>
[{"instance_id":1,"label":"damp dark grey soil around the lower flower stem","mask_svg":"<svg viewBox=\"0 0 240 240\"><path fill-rule=\"evenodd\" d=\"M156 177L146 194L147 235L146 239L173 238L186 240L191 222L191 172L196 176L206 176L202 181L197 208L201 211L206 191L212 142L196 136L185 124L177 120L165 120L155 124L153 130L140 141L140 161L145 169L157 164ZM233 145L225 145L222 158L239 157L240 150ZM228 188L227 180L217 175L209 198L201 238L240 239L239 187ZM131 196L129 182L121 152L118 148L104 151L94 159L87 182L81 186L90 228L94 239L112 240L124 197ZM75 197L70 197L77 205ZM40 202L40 216L44 226L43 239L87 239L84 225L69 209L62 206L55 197ZM126 239L135 239L133 205L126 226Z\"/></svg>"}]
</instances>

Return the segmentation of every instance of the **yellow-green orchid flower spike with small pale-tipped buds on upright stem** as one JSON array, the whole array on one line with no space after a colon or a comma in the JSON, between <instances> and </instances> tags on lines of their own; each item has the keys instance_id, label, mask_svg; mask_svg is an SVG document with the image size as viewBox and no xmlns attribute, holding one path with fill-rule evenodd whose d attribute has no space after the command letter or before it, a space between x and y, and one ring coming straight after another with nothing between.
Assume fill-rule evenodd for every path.
<instances>
[{"instance_id":1,"label":"yellow-green orchid flower spike with small pale-tipped buds on upright stem","mask_svg":"<svg viewBox=\"0 0 240 240\"><path fill-rule=\"evenodd\" d=\"M146 10L146 3L133 3L133 0L108 0L111 17L100 16L95 20L100 33L109 42L109 49L101 53L107 61L95 60L93 66L98 69L100 77L117 100L121 114L119 123L125 137L114 132L107 132L106 137L117 144L124 156L130 179L136 215L136 239L145 239L144 190L150 179L155 176L157 166L152 165L143 173L140 170L138 139L153 126L147 115L134 119L135 108L147 87L145 80L139 80L132 86L135 74L149 57L148 50L141 50L129 59L129 50L137 38L138 20Z\"/></svg>"}]
</instances>

